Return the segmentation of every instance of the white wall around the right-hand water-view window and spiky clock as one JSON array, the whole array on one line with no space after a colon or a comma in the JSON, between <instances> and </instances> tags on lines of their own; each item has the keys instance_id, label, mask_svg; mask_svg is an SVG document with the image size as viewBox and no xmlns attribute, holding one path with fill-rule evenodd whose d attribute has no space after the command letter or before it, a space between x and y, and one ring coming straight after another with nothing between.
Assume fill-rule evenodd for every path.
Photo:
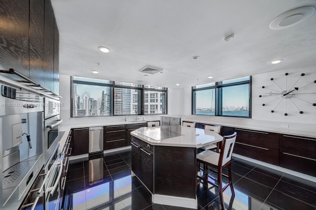
<instances>
[{"instance_id":1,"label":"white wall around the right-hand water-view window and spiky clock","mask_svg":"<svg viewBox=\"0 0 316 210\"><path fill-rule=\"evenodd\" d=\"M285 73L289 73L287 78L285 77ZM304 77L299 79L300 74L305 73ZM274 78L274 81L270 79ZM286 79L287 79L287 88L286 88ZM299 79L299 80L298 80ZM302 100L292 100L295 102L296 106L304 111L304 114L299 114L298 108L290 101L290 99L282 100L282 102L277 106L275 113L271 113L278 100L268 103L266 106L262 106L263 103L267 103L273 100L273 97L259 97L259 95L265 95L264 93L269 93L272 90L280 90L278 86L280 86L283 90L287 90L294 87L303 87L307 84L313 83L316 80L316 71L315 69L300 69L295 72L288 72L286 70L279 70L275 72L258 74L252 76L252 119L243 119L243 118L229 118L229 117L211 117L211 116L193 116L191 115L191 88L184 88L182 90L174 90L170 91L170 93L177 94L174 96L173 94L169 94L169 98L177 98L175 100L172 99L171 106L181 107L183 109L182 115L186 118L190 118L193 120L202 120L209 122L222 122L222 123L232 123L234 125L239 124L240 126L245 127L256 127L263 126L266 128L279 127L281 129L281 124L288 125L289 129L294 130L307 130L307 131L315 131L316 128L316 106L312 106L311 103L316 103L316 94L297 94L297 97L304 99ZM296 83L296 84L295 84ZM277 85L276 85L277 84ZM294 85L295 84L295 85ZM294 86L293 86L294 85ZM262 86L265 86L266 89L262 89ZM292 87L293 86L293 87ZM270 88L272 90L268 90ZM291 90L292 90L291 89ZM300 90L300 89L299 89ZM316 83L313 83L303 89L303 92L316 92ZM298 91L300 92L300 91ZM295 91L293 91L295 94ZM267 94L266 94L267 95ZM179 96L182 97L179 98ZM285 102L286 101L286 102ZM284 116L285 113L285 104L286 104L286 112L288 116ZM175 108L169 109L169 114L181 114L175 111ZM173 113L174 112L174 113ZM284 129L284 128L282 128Z\"/></svg>"}]
</instances>

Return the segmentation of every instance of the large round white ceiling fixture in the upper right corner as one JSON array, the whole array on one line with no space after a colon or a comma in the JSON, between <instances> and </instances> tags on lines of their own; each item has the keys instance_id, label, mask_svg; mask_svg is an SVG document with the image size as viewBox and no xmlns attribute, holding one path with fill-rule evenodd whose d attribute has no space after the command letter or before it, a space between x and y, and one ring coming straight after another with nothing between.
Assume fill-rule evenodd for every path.
<instances>
[{"instance_id":1,"label":"large round white ceiling fixture in the upper right corner","mask_svg":"<svg viewBox=\"0 0 316 210\"><path fill-rule=\"evenodd\" d=\"M315 8L313 6L303 6L287 11L270 24L270 29L285 29L299 24L313 15Z\"/></svg>"}]
</instances>

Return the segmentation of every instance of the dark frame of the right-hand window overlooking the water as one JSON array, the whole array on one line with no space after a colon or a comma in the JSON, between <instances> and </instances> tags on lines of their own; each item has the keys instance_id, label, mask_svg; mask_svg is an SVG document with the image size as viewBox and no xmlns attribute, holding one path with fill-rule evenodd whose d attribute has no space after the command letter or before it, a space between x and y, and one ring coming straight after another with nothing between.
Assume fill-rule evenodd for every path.
<instances>
[{"instance_id":1,"label":"dark frame of the right-hand window overlooking the water","mask_svg":"<svg viewBox=\"0 0 316 210\"><path fill-rule=\"evenodd\" d=\"M195 88L192 87L192 104L191 104L191 114L192 115L198 115L198 116L216 116L216 117L230 117L230 118L252 118L252 76L249 76L249 80L241 81L241 82L232 82L228 84L222 84L223 81L215 82L214 86L209 87L203 87L203 88ZM222 114L222 103L223 103L223 97L221 96L221 90L225 87L232 87L232 86L238 86L238 85L249 85L249 117L244 116L229 116L229 115L223 115ZM215 113L214 115L203 115L203 114L196 114L196 91L199 90L211 90L215 89Z\"/></svg>"}]
</instances>

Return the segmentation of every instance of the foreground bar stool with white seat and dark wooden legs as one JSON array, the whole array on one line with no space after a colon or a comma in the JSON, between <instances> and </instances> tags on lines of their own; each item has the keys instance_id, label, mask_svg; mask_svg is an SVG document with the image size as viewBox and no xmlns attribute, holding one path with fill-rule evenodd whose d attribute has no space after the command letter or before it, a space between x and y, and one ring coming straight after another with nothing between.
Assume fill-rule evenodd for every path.
<instances>
[{"instance_id":1,"label":"foreground bar stool with white seat and dark wooden legs","mask_svg":"<svg viewBox=\"0 0 316 210\"><path fill-rule=\"evenodd\" d=\"M221 152L217 153L211 150L205 150L197 154L197 172L199 171L198 164L203 163L205 167L203 176L199 176L197 174L197 181L198 179L206 181L209 184L218 188L219 191L219 198L221 202L221 207L224 210L224 197L223 191L227 189L228 186L231 187L232 195L235 196L235 191L233 188L233 181L232 181L232 153L236 141L237 133L235 132L232 135L224 136ZM222 170L228 166L228 183L222 187ZM208 167L212 167L217 169L217 183L213 183L208 180Z\"/></svg>"}]
</instances>

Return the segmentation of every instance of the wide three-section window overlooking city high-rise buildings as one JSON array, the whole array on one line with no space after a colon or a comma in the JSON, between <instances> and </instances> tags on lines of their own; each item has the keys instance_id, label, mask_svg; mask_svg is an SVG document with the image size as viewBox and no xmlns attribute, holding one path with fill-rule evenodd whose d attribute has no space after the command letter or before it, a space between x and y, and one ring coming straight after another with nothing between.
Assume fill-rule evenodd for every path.
<instances>
[{"instance_id":1,"label":"wide three-section window overlooking city high-rise buildings","mask_svg":"<svg viewBox=\"0 0 316 210\"><path fill-rule=\"evenodd\" d=\"M72 84L72 117L167 114L166 88L83 77Z\"/></svg>"}]
</instances>

